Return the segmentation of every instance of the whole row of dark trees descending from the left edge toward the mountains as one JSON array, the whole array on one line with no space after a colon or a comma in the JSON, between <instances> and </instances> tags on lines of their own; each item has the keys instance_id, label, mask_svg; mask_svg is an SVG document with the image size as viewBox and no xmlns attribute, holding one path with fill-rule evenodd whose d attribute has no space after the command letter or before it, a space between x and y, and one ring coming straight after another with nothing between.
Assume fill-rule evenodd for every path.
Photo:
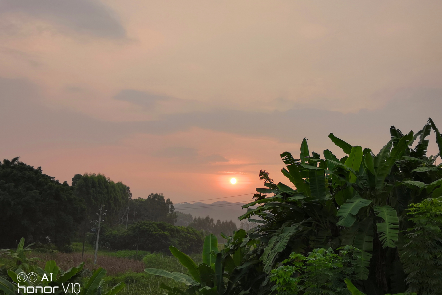
<instances>
[{"instance_id":1,"label":"whole row of dark trees descending from the left edge toward the mountains","mask_svg":"<svg viewBox=\"0 0 442 295\"><path fill-rule=\"evenodd\" d=\"M96 232L95 220L102 204L106 210L104 233L107 229L130 228L140 221L173 226L177 218L173 202L161 193L132 199L129 186L103 174L76 174L69 185L44 174L41 167L21 162L19 157L5 159L0 162L0 247L14 247L25 237L28 242L54 244L66 251L77 238L84 248L87 236ZM164 232L178 235L170 228ZM202 243L197 231L186 233Z\"/></svg>"}]
</instances>

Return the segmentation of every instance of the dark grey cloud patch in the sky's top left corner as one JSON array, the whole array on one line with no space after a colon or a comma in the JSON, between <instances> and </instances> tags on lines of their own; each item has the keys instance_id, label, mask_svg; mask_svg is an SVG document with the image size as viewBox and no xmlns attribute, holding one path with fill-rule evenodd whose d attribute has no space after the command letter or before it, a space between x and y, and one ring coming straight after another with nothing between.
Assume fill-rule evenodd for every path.
<instances>
[{"instance_id":1,"label":"dark grey cloud patch in the sky's top left corner","mask_svg":"<svg viewBox=\"0 0 442 295\"><path fill-rule=\"evenodd\" d=\"M1 14L27 14L78 33L104 38L124 38L126 30L115 13L97 0L0 0Z\"/></svg>"}]
</instances>

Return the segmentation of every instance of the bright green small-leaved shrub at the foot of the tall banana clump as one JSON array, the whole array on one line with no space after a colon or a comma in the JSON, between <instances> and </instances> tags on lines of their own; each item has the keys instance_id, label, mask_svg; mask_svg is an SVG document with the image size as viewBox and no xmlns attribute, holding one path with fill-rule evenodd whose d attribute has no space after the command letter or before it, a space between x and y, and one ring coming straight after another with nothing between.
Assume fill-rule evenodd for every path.
<instances>
[{"instance_id":1,"label":"bright green small-leaved shrub at the foot of the tall banana clump","mask_svg":"<svg viewBox=\"0 0 442 295\"><path fill-rule=\"evenodd\" d=\"M271 271L272 291L278 295L350 294L344 279L353 277L353 248L346 246L339 254L329 249L315 249L307 256L292 253L283 266Z\"/></svg>"}]
</instances>

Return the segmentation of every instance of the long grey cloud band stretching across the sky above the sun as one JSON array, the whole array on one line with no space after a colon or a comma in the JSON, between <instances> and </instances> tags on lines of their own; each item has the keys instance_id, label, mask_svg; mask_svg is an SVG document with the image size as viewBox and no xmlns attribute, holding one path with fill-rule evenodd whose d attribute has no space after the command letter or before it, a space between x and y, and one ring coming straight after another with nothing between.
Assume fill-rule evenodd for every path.
<instances>
[{"instance_id":1,"label":"long grey cloud band stretching across the sky above the sun","mask_svg":"<svg viewBox=\"0 0 442 295\"><path fill-rule=\"evenodd\" d=\"M196 127L284 143L300 142L307 137L312 147L319 148L317 152L330 147L327 135L333 132L352 145L376 150L389 139L391 125L404 132L417 131L432 117L442 126L442 89L403 89L383 108L356 113L314 108L268 113L216 109L167 114L156 121L137 122L102 121L69 109L47 108L39 102L39 89L23 79L0 78L0 89L0 137L9 139L3 143L5 146L39 141L107 144L131 134L165 135ZM162 97L152 98L158 99ZM228 161L222 155L204 155L186 147L166 148L156 156L172 155L198 163Z\"/></svg>"}]
</instances>

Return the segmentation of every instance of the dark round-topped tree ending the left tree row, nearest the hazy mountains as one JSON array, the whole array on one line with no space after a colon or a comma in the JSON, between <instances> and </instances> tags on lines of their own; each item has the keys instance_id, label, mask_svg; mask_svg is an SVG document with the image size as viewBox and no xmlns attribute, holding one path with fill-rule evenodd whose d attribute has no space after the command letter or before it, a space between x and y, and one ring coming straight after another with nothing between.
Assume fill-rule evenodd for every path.
<instances>
[{"instance_id":1,"label":"dark round-topped tree ending the left tree row, nearest the hazy mountains","mask_svg":"<svg viewBox=\"0 0 442 295\"><path fill-rule=\"evenodd\" d=\"M172 201L170 199L165 200L161 193L152 193L147 196L147 199L131 200L129 210L131 214L135 212L132 221L149 220L174 224L177 218Z\"/></svg>"}]
</instances>

